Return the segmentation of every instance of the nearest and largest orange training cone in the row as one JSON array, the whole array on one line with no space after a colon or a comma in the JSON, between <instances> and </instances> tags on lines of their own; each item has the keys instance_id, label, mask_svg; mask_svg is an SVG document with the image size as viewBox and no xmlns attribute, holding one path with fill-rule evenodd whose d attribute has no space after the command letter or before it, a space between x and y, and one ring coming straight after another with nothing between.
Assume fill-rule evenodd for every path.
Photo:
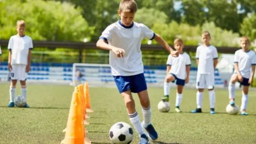
<instances>
[{"instance_id":1,"label":"nearest and largest orange training cone in the row","mask_svg":"<svg viewBox=\"0 0 256 144\"><path fill-rule=\"evenodd\" d=\"M73 93L68 114L66 134L61 144L84 144L84 125L82 121L82 111L79 93Z\"/></svg>"}]
</instances>

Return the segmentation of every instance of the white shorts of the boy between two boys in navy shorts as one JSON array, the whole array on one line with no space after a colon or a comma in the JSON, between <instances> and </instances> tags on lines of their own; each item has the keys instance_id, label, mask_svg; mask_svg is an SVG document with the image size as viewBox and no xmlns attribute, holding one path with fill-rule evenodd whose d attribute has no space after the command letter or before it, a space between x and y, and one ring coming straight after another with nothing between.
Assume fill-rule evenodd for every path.
<instances>
[{"instance_id":1,"label":"white shorts of the boy between two boys in navy shorts","mask_svg":"<svg viewBox=\"0 0 256 144\"><path fill-rule=\"evenodd\" d=\"M196 77L197 89L213 89L214 88L214 74L197 74Z\"/></svg>"}]
</instances>

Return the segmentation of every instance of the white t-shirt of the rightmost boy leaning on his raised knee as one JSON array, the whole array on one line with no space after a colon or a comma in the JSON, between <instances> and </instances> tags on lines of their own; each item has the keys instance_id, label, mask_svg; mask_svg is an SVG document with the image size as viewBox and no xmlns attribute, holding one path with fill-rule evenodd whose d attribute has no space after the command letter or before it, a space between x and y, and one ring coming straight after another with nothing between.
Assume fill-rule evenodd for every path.
<instances>
[{"instance_id":1,"label":"white t-shirt of the rightmost boy leaning on his raised knee","mask_svg":"<svg viewBox=\"0 0 256 144\"><path fill-rule=\"evenodd\" d=\"M252 65L256 65L256 54L254 51L237 50L234 55L234 63L238 63L238 70L244 78L250 78Z\"/></svg>"}]
</instances>

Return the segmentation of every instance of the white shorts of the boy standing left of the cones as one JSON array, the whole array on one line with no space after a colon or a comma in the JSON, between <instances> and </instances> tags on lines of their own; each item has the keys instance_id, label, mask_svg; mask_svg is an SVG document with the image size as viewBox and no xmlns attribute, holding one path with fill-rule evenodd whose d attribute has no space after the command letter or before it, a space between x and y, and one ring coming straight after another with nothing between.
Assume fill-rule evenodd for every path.
<instances>
[{"instance_id":1,"label":"white shorts of the boy standing left of the cones","mask_svg":"<svg viewBox=\"0 0 256 144\"><path fill-rule=\"evenodd\" d=\"M27 79L26 65L13 64L12 71L10 72L11 80L24 81Z\"/></svg>"}]
</instances>

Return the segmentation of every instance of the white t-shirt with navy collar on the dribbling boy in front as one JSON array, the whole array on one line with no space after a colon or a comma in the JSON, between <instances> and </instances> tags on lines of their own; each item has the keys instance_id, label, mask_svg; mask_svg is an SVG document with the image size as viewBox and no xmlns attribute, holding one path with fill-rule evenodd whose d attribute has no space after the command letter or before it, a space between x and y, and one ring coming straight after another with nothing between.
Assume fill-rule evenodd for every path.
<instances>
[{"instance_id":1,"label":"white t-shirt with navy collar on the dribbling boy in front","mask_svg":"<svg viewBox=\"0 0 256 144\"><path fill-rule=\"evenodd\" d=\"M124 49L126 54L118 58L109 52L109 64L113 76L133 76L144 72L140 45L143 38L154 39L155 33L142 23L123 25L120 20L112 23L102 32L100 39L109 45Z\"/></svg>"}]
</instances>

